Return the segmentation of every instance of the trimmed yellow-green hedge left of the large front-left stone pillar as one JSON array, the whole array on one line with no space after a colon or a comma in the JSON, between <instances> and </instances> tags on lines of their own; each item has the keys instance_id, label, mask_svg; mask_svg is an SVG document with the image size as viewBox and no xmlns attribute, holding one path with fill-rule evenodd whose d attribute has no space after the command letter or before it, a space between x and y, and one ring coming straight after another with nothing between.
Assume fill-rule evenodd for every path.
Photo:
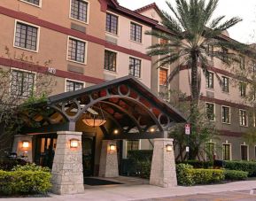
<instances>
[{"instance_id":1,"label":"trimmed yellow-green hedge left of the large front-left stone pillar","mask_svg":"<svg viewBox=\"0 0 256 201\"><path fill-rule=\"evenodd\" d=\"M50 187L50 173L0 170L0 195L45 193Z\"/></svg>"}]
</instances>

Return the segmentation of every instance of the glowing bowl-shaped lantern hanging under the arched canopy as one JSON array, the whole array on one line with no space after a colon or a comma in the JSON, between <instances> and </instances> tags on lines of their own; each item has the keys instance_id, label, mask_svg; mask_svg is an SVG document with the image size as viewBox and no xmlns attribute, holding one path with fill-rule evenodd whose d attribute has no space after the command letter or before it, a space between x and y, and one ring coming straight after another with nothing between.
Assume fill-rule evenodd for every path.
<instances>
[{"instance_id":1,"label":"glowing bowl-shaped lantern hanging under the arched canopy","mask_svg":"<svg viewBox=\"0 0 256 201\"><path fill-rule=\"evenodd\" d=\"M100 127L105 124L105 116L101 109L101 106L99 105L99 112L93 111L91 108L88 110L89 115L85 119L82 120L83 123L85 123L89 127Z\"/></svg>"}]
</instances>

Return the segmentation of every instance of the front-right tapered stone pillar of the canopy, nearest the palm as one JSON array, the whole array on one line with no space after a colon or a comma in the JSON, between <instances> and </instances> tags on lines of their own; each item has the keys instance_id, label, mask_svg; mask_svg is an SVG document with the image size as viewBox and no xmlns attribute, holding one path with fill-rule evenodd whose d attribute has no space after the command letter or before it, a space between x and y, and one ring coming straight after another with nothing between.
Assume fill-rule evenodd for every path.
<instances>
[{"instance_id":1,"label":"front-right tapered stone pillar of the canopy, nearest the palm","mask_svg":"<svg viewBox=\"0 0 256 201\"><path fill-rule=\"evenodd\" d=\"M151 185L164 188L177 185L173 141L168 138L154 139ZM171 146L171 151L167 151L167 145Z\"/></svg>"}]
</instances>

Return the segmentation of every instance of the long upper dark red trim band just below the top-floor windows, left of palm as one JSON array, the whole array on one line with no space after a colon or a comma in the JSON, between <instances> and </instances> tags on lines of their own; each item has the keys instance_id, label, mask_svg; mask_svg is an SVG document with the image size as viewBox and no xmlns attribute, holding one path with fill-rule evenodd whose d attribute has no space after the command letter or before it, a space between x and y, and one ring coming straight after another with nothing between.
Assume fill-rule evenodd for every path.
<instances>
[{"instance_id":1,"label":"long upper dark red trim band just below the top-floor windows, left of palm","mask_svg":"<svg viewBox=\"0 0 256 201\"><path fill-rule=\"evenodd\" d=\"M65 35L71 35L71 36L74 36L77 38L81 38L82 40L89 41L91 43L97 43L97 44L105 46L106 48L121 51L123 53L132 55L136 58L144 58L146 60L151 60L151 57L149 57L148 55L146 55L142 52L139 52L136 50L130 50L128 48L124 48L124 47L121 47L118 45L107 43L104 39L100 39L100 38L97 38L92 35L86 35L79 31L75 31L75 30L67 28L67 27L62 27L57 24L53 24L49 21L45 21L43 19L37 19L34 16L28 15L27 13L24 13L24 12L15 12L15 11L12 11L10 9L0 6L0 14L4 14L4 15L9 16L14 19L27 21L28 23L35 24L39 27L45 27L45 28L51 29L53 31L57 31L57 32L65 34Z\"/></svg>"}]
</instances>

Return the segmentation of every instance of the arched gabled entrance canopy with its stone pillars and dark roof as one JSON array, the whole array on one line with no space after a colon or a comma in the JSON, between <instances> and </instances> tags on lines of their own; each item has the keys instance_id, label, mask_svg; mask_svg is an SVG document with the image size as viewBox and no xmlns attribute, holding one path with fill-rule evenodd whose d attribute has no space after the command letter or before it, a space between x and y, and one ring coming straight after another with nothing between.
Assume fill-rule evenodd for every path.
<instances>
[{"instance_id":1,"label":"arched gabled entrance canopy with its stone pillars and dark roof","mask_svg":"<svg viewBox=\"0 0 256 201\"><path fill-rule=\"evenodd\" d=\"M24 134L58 135L52 166L54 192L81 192L83 174L118 176L117 141L124 139L154 139L151 184L175 185L173 143L167 133L185 119L134 77L59 94L37 106L42 113L34 120L42 126L26 128ZM51 147L54 150L54 140L46 143L46 149Z\"/></svg>"}]
</instances>

